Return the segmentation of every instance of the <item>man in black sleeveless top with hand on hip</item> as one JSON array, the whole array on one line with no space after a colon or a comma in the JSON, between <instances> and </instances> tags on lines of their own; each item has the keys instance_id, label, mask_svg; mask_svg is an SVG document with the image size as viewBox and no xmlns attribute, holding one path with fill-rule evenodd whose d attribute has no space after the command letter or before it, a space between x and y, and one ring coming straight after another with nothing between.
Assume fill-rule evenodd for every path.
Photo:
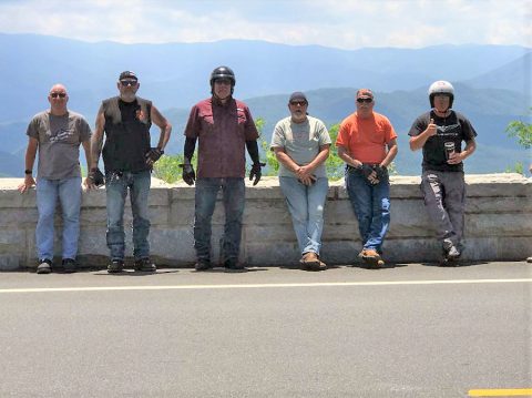
<instances>
[{"instance_id":1,"label":"man in black sleeveless top with hand on hip","mask_svg":"<svg viewBox=\"0 0 532 398\"><path fill-rule=\"evenodd\" d=\"M92 136L92 165L89 187L95 187L99 180L98 162L103 155L105 167L105 191L108 207L108 247L111 251L109 273L120 273L124 266L124 204L130 191L133 213L133 256L135 271L155 272L150 259L150 220L147 196L153 164L164 153L170 140L172 125L151 101L136 96L140 88L134 72L120 74L119 96L104 100L96 116ZM152 122L161 129L156 147L151 147L150 127ZM103 135L105 133L105 144ZM103 145L103 152L102 152Z\"/></svg>"}]
</instances>

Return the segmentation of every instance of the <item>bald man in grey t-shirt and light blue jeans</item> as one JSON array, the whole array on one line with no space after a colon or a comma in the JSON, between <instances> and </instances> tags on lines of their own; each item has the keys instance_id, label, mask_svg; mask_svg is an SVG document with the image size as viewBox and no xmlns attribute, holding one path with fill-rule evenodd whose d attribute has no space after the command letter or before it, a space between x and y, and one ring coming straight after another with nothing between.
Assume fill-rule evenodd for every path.
<instances>
[{"instance_id":1,"label":"bald man in grey t-shirt and light blue jeans","mask_svg":"<svg viewBox=\"0 0 532 398\"><path fill-rule=\"evenodd\" d=\"M49 274L53 262L53 218L57 203L61 204L63 218L62 268L76 269L78 238L80 236L81 167L80 144L85 151L86 164L91 161L91 127L85 119L69 111L69 94L63 84L54 84L48 94L50 109L33 116L28 125L25 176L19 186L27 193L37 186L39 220L35 229L38 274ZM33 164L39 152L37 183ZM86 178L84 184L86 185Z\"/></svg>"}]
</instances>

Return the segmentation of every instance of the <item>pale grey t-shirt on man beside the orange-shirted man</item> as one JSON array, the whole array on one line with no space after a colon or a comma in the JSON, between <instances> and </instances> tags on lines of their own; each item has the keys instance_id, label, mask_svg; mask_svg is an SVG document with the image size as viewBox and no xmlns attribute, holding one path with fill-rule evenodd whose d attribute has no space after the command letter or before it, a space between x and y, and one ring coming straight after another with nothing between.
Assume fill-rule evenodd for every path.
<instances>
[{"instance_id":1,"label":"pale grey t-shirt on man beside the orange-shirted man","mask_svg":"<svg viewBox=\"0 0 532 398\"><path fill-rule=\"evenodd\" d=\"M330 143L329 132L319 119L307 116L305 122L294 123L288 116L275 125L270 149L283 147L295 163L304 166L318 155L320 146ZM316 169L315 175L318 178L327 176L325 163ZM296 174L279 164L279 176L296 177Z\"/></svg>"}]
</instances>

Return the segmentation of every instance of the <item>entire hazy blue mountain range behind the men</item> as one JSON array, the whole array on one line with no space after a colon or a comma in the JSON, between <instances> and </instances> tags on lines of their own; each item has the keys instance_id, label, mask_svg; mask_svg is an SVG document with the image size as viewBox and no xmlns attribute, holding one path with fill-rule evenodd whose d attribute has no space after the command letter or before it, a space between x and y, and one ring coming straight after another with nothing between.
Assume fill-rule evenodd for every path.
<instances>
[{"instance_id":1,"label":"entire hazy blue mountain range behind the men","mask_svg":"<svg viewBox=\"0 0 532 398\"><path fill-rule=\"evenodd\" d=\"M512 120L530 122L531 53L515 45L348 51L247 40L120 44L0 33L0 174L22 176L25 127L33 114L48 108L51 85L64 83L69 108L93 124L101 100L116 94L123 70L139 74L139 95L153 100L171 120L167 153L181 153L190 108L209 95L209 73L221 64L235 71L235 96L249 105L255 119L265 120L266 141L275 122L288 114L291 91L305 91L309 113L331 125L354 111L357 88L372 89L376 111L386 114L399 134L396 163L401 174L419 173L420 156L408 150L407 132L429 108L428 85L449 80L457 92L454 108L479 133L479 153L468 160L467 170L500 172L531 160L504 132ZM152 134L156 139L157 129Z\"/></svg>"}]
</instances>

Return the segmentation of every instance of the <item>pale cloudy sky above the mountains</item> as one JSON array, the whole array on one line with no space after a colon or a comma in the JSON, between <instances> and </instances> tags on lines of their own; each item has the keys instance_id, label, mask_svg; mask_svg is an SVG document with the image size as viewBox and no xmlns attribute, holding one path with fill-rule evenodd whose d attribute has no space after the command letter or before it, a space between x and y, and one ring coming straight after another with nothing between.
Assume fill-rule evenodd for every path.
<instances>
[{"instance_id":1,"label":"pale cloudy sky above the mountains","mask_svg":"<svg viewBox=\"0 0 532 398\"><path fill-rule=\"evenodd\" d=\"M0 0L0 32L122 43L532 48L530 0Z\"/></svg>"}]
</instances>

